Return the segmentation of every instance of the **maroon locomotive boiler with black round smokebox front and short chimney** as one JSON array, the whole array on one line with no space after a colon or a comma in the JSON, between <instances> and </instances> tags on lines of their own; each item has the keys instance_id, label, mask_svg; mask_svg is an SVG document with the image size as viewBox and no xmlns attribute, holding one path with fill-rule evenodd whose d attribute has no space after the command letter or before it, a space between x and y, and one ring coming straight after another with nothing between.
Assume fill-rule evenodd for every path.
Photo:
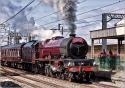
<instances>
[{"instance_id":1,"label":"maroon locomotive boiler with black round smokebox front and short chimney","mask_svg":"<svg viewBox=\"0 0 125 88\"><path fill-rule=\"evenodd\" d=\"M41 49L42 58L51 56L58 59L84 59L87 52L87 42L81 37L75 37L75 34L70 35L69 38L57 36L46 40Z\"/></svg>"}]
</instances>

